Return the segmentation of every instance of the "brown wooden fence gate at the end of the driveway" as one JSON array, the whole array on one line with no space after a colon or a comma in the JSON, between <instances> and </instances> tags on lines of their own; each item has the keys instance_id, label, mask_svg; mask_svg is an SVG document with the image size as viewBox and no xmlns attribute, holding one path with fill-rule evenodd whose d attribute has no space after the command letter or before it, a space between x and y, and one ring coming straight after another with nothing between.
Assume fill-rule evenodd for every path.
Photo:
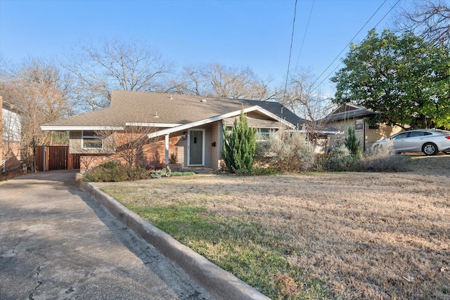
<instances>
[{"instance_id":1,"label":"brown wooden fence gate at the end of the driveway","mask_svg":"<svg viewBox=\"0 0 450 300\"><path fill-rule=\"evenodd\" d=\"M36 148L37 171L79 169L79 154L70 154L68 146Z\"/></svg>"}]
</instances>

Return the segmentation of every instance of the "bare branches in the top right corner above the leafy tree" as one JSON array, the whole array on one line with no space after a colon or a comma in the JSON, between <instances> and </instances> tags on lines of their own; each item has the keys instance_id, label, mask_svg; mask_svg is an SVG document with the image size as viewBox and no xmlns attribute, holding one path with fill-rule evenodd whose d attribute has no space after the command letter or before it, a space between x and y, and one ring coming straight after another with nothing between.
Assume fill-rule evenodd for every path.
<instances>
[{"instance_id":1,"label":"bare branches in the top right corner above the leafy tree","mask_svg":"<svg viewBox=\"0 0 450 300\"><path fill-rule=\"evenodd\" d=\"M413 32L433 44L450 46L450 1L414 1L398 11L393 27L394 31Z\"/></svg>"}]
</instances>

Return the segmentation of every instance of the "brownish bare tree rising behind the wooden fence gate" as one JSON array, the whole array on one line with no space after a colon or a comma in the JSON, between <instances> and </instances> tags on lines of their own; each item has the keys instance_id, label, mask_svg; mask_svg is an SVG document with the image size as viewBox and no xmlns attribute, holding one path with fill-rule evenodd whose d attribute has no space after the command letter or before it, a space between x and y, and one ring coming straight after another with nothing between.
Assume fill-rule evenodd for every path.
<instances>
[{"instance_id":1,"label":"brownish bare tree rising behind the wooden fence gate","mask_svg":"<svg viewBox=\"0 0 450 300\"><path fill-rule=\"evenodd\" d=\"M1 94L20 115L21 148L32 163L37 145L51 143L51 132L41 131L41 124L70 115L75 106L70 100L72 81L56 65L31 59L2 72Z\"/></svg>"}]
</instances>

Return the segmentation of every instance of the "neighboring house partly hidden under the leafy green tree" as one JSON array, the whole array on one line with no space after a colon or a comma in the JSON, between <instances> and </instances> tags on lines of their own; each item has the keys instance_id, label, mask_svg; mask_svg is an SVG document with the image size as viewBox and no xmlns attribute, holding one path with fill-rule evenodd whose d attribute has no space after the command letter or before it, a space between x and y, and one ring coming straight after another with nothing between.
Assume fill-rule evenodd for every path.
<instances>
[{"instance_id":1,"label":"neighboring house partly hidden under the leafy green tree","mask_svg":"<svg viewBox=\"0 0 450 300\"><path fill-rule=\"evenodd\" d=\"M342 145L349 128L354 129L356 138L361 143L363 150L370 149L375 141L388 138L403 130L400 126L387 126L385 123L371 122L376 115L378 115L378 112L351 103L340 105L321 120L321 122L343 132L342 135L330 138L330 147Z\"/></svg>"}]
</instances>

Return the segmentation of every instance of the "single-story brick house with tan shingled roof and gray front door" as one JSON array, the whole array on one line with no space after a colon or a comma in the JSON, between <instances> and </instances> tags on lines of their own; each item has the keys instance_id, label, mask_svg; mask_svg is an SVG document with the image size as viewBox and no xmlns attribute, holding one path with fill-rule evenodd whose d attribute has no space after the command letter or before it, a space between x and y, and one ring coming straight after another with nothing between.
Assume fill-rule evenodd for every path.
<instances>
[{"instance_id":1,"label":"single-story brick house with tan shingled roof and gray front door","mask_svg":"<svg viewBox=\"0 0 450 300\"><path fill-rule=\"evenodd\" d=\"M41 129L70 131L70 152L81 155L81 171L110 160L123 161L120 150L143 129L149 140L136 144L139 149L134 152L141 164L163 167L175 162L183 167L221 169L224 125L231 127L241 110L249 126L260 133L304 124L277 102L113 91L110 107L44 124Z\"/></svg>"}]
</instances>

